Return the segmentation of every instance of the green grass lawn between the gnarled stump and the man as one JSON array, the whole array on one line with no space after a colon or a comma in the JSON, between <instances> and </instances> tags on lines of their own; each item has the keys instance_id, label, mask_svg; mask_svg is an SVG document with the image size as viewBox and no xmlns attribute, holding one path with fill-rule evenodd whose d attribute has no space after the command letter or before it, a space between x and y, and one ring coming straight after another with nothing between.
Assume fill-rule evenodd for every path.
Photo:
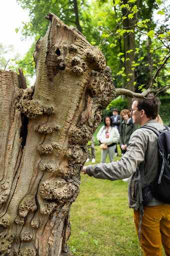
<instances>
[{"instance_id":1,"label":"green grass lawn between the gnarled stump and the man","mask_svg":"<svg viewBox=\"0 0 170 256\"><path fill-rule=\"evenodd\" d=\"M96 163L99 163L101 149L99 146L95 148ZM118 151L120 153L119 147ZM106 162L109 162L109 157ZM89 164L92 163L85 165ZM73 252L75 255L143 255L133 221L133 209L128 206L128 182L96 179L82 173L80 193L71 206L70 222L72 232L68 245L76 252ZM87 234L79 234L80 231Z\"/></svg>"}]
</instances>

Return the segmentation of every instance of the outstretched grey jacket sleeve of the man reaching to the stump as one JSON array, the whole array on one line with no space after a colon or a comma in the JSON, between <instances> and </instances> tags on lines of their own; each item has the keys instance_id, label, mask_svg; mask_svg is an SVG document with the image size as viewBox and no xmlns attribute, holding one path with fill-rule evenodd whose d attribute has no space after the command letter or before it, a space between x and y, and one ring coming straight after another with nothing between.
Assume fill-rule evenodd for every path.
<instances>
[{"instance_id":1,"label":"outstretched grey jacket sleeve of the man reaching to the stump","mask_svg":"<svg viewBox=\"0 0 170 256\"><path fill-rule=\"evenodd\" d=\"M87 166L87 174L95 178L116 180L130 177L137 166L144 161L147 150L142 132L135 131L131 136L127 152L120 160L111 163L98 163Z\"/></svg>"}]
</instances>

